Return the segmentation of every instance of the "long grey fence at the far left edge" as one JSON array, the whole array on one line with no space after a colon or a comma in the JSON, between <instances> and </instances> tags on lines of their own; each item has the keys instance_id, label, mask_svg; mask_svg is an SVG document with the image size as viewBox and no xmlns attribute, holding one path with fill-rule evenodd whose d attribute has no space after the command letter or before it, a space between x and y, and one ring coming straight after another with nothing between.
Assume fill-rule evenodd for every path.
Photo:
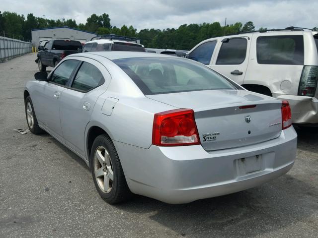
<instances>
[{"instance_id":1,"label":"long grey fence at the far left edge","mask_svg":"<svg viewBox=\"0 0 318 238\"><path fill-rule=\"evenodd\" d=\"M32 43L0 36L0 61L32 52Z\"/></svg>"}]
</instances>

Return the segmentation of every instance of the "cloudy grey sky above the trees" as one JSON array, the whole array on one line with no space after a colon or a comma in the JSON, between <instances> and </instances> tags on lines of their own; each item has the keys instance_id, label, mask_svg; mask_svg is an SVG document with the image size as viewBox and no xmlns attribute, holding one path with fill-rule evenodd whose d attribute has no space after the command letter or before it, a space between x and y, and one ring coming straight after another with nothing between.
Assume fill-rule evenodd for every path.
<instances>
[{"instance_id":1,"label":"cloudy grey sky above the trees","mask_svg":"<svg viewBox=\"0 0 318 238\"><path fill-rule=\"evenodd\" d=\"M318 0L0 0L0 11L33 13L49 19L85 23L96 13L109 14L111 25L177 28L182 24L218 21L224 25L252 21L259 27L318 26Z\"/></svg>"}]
</instances>

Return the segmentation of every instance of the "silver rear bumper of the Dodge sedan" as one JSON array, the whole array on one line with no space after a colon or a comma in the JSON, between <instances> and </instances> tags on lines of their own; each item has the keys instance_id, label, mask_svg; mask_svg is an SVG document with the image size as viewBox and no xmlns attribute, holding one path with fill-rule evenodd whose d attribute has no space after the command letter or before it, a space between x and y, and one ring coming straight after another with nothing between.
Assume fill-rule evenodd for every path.
<instances>
[{"instance_id":1,"label":"silver rear bumper of the Dodge sedan","mask_svg":"<svg viewBox=\"0 0 318 238\"><path fill-rule=\"evenodd\" d=\"M114 143L133 193L180 204L241 191L286 174L295 162L297 134L290 127L270 141L210 152L201 145L143 149ZM261 155L261 169L246 174L240 161L256 155Z\"/></svg>"}]
</instances>

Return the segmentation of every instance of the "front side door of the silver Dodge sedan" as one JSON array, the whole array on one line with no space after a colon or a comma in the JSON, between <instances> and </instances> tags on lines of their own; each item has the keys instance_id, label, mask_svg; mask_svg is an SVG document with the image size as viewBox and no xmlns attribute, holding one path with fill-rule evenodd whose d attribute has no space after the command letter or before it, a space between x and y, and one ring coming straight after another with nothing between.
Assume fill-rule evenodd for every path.
<instances>
[{"instance_id":1,"label":"front side door of the silver Dodge sedan","mask_svg":"<svg viewBox=\"0 0 318 238\"><path fill-rule=\"evenodd\" d=\"M64 139L60 120L60 96L68 86L78 64L78 60L62 62L50 74L49 81L43 82L42 90L37 90L37 95L34 95L39 120L50 134L61 141Z\"/></svg>"}]
</instances>

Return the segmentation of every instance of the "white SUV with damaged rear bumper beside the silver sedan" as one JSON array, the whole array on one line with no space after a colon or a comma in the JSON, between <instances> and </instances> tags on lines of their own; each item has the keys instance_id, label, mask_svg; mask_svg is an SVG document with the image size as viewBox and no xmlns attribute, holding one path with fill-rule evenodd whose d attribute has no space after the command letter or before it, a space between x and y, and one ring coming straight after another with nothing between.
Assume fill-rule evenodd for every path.
<instances>
[{"instance_id":1,"label":"white SUV with damaged rear bumper beside the silver sedan","mask_svg":"<svg viewBox=\"0 0 318 238\"><path fill-rule=\"evenodd\" d=\"M318 125L318 31L288 27L211 38L186 58L247 90L288 100L294 123Z\"/></svg>"}]
</instances>

